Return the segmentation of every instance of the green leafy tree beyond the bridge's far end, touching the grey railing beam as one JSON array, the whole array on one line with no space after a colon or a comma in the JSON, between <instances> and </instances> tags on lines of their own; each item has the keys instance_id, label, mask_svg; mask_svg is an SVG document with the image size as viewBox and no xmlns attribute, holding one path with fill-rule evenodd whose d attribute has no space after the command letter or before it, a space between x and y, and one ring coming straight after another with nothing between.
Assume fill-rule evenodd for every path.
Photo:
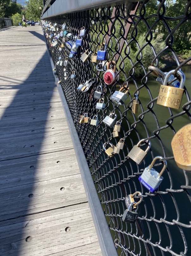
<instances>
[{"instance_id":1,"label":"green leafy tree beyond the bridge's far end, touching the grey railing beam","mask_svg":"<svg viewBox=\"0 0 191 256\"><path fill-rule=\"evenodd\" d=\"M43 0L28 0L26 3L26 17L30 20L39 20L41 16L40 7L43 7Z\"/></svg>"}]
</instances>

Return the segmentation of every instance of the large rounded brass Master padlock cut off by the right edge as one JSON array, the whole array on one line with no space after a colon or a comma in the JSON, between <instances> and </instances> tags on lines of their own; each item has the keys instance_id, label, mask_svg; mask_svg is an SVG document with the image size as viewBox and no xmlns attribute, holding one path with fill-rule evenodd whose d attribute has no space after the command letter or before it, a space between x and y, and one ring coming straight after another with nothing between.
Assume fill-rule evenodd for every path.
<instances>
[{"instance_id":1,"label":"large rounded brass Master padlock cut off by the right edge","mask_svg":"<svg viewBox=\"0 0 191 256\"><path fill-rule=\"evenodd\" d=\"M176 132L171 146L175 162L179 168L191 171L191 124L183 126Z\"/></svg>"}]
</instances>

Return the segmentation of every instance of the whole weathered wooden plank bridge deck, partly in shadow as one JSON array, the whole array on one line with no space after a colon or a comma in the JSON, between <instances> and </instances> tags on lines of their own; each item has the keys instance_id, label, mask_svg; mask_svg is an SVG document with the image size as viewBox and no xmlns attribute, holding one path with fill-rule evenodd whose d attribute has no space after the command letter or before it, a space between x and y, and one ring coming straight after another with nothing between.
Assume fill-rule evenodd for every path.
<instances>
[{"instance_id":1,"label":"whole weathered wooden plank bridge deck, partly in shadow","mask_svg":"<svg viewBox=\"0 0 191 256\"><path fill-rule=\"evenodd\" d=\"M0 31L0 255L102 255L40 26Z\"/></svg>"}]
</instances>

